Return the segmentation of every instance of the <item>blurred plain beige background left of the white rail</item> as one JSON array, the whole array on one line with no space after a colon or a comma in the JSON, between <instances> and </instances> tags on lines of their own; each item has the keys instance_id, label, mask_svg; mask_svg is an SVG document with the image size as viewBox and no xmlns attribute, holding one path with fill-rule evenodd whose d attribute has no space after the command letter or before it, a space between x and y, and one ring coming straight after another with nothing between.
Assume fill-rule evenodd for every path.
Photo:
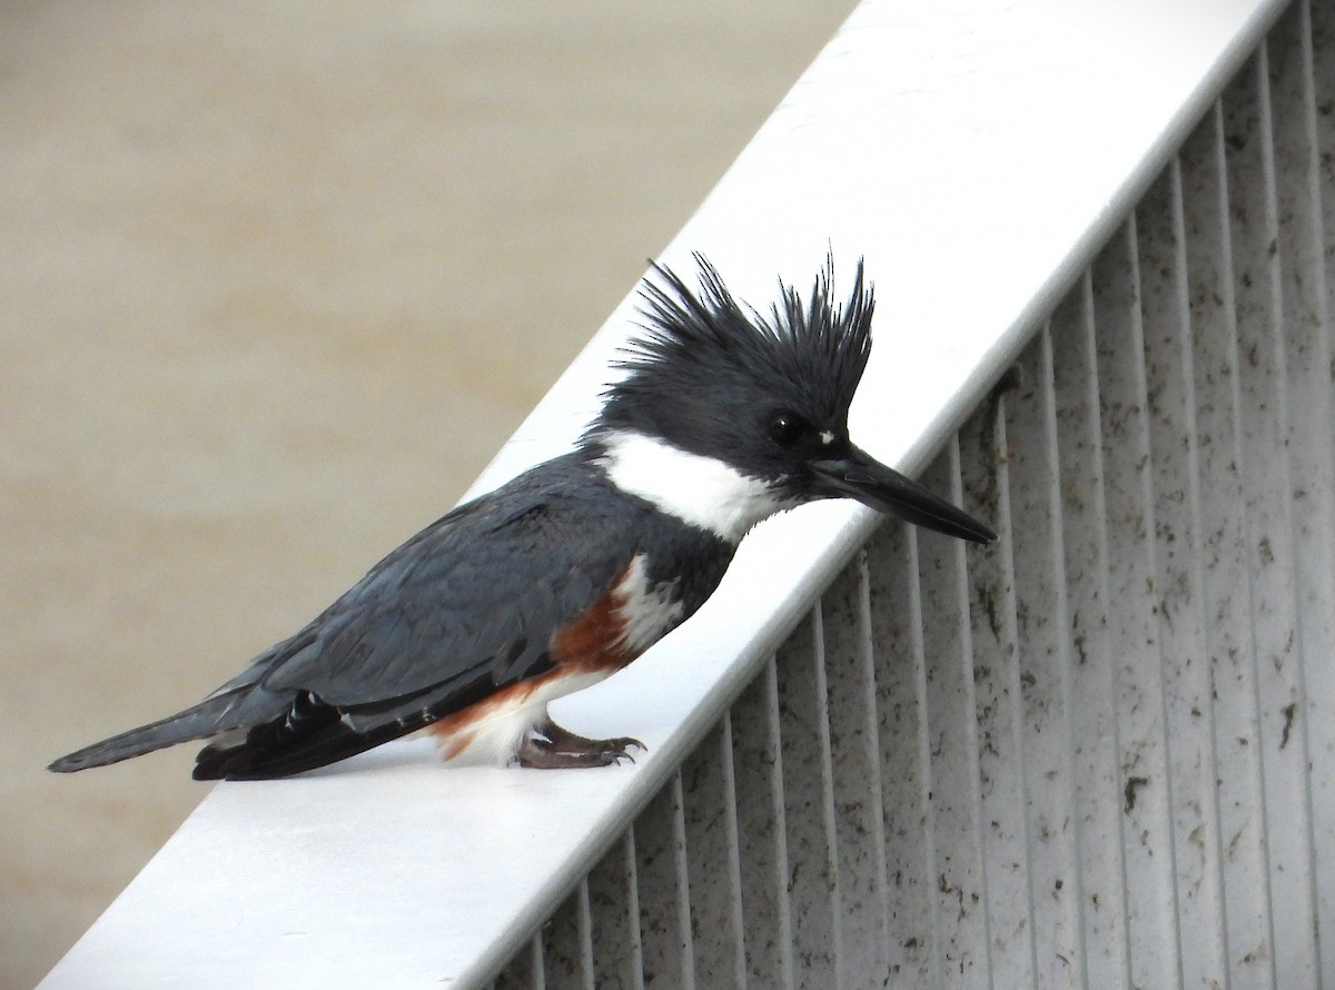
<instances>
[{"instance_id":1,"label":"blurred plain beige background left of the white rail","mask_svg":"<svg viewBox=\"0 0 1335 990\"><path fill-rule=\"evenodd\" d=\"M198 700L441 515L852 7L0 5L0 986Z\"/></svg>"}]
</instances>

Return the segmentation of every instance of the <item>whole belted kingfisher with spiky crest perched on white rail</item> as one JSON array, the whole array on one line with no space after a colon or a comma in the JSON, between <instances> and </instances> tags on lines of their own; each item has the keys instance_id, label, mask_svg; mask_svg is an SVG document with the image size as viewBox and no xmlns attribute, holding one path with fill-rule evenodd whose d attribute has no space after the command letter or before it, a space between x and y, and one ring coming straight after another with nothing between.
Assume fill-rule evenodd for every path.
<instances>
[{"instance_id":1,"label":"whole belted kingfisher with spiky crest perched on white rail","mask_svg":"<svg viewBox=\"0 0 1335 990\"><path fill-rule=\"evenodd\" d=\"M547 703L621 670L718 587L746 532L853 498L951 536L987 526L848 436L874 307L833 262L768 315L702 255L641 288L642 334L575 450L433 523L295 635L199 704L51 765L68 773L206 739L196 779L311 770L427 728L446 759L609 766L630 738L586 739Z\"/></svg>"}]
</instances>

